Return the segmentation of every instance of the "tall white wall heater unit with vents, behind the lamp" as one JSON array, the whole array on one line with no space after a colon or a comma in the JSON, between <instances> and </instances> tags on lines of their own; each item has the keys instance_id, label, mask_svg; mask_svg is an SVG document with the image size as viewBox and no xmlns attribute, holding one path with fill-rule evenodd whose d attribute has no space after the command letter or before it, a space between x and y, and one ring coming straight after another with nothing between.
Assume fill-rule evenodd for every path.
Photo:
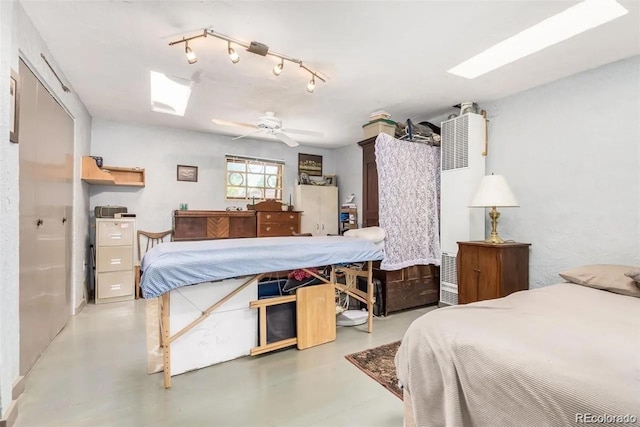
<instances>
[{"instance_id":1,"label":"tall white wall heater unit with vents, behind the lamp","mask_svg":"<svg viewBox=\"0 0 640 427\"><path fill-rule=\"evenodd\" d=\"M486 125L468 113L442 122L440 155L440 302L458 304L458 242L484 240L484 209L469 202L485 175Z\"/></svg>"}]
</instances>

